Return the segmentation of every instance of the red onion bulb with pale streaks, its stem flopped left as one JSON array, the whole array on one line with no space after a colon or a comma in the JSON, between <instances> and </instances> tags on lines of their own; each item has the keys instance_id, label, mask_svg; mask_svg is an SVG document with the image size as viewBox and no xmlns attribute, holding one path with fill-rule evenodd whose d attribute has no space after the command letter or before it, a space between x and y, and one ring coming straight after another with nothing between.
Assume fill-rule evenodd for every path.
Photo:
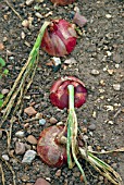
<instances>
[{"instance_id":1,"label":"red onion bulb with pale streaks, its stem flopped left","mask_svg":"<svg viewBox=\"0 0 124 185\"><path fill-rule=\"evenodd\" d=\"M53 20L45 32L41 48L50 55L63 57L73 51L76 32L65 20Z\"/></svg>"}]
</instances>

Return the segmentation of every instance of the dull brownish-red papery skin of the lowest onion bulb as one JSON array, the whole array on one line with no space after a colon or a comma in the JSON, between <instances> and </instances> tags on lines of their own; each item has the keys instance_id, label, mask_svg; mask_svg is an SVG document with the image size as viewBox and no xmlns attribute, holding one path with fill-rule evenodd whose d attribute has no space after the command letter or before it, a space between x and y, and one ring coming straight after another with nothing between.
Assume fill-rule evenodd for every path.
<instances>
[{"instance_id":1,"label":"dull brownish-red papery skin of the lowest onion bulb","mask_svg":"<svg viewBox=\"0 0 124 185\"><path fill-rule=\"evenodd\" d=\"M37 153L50 166L60 168L67 161L66 147L58 141L57 136L63 126L50 126L40 133Z\"/></svg>"}]
</instances>

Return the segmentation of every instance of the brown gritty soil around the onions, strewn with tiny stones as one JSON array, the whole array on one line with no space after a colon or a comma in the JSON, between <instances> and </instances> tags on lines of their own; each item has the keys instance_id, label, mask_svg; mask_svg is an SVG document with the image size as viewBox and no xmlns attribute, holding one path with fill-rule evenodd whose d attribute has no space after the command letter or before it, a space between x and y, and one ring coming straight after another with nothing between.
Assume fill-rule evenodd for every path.
<instances>
[{"instance_id":1,"label":"brown gritty soil around the onions, strewn with tiny stones","mask_svg":"<svg viewBox=\"0 0 124 185\"><path fill-rule=\"evenodd\" d=\"M38 138L40 131L50 125L49 119L55 118L58 121L65 122L66 110L60 111L52 107L49 100L49 90L52 83L60 76L74 75L80 78L87 89L87 102L76 110L78 125L82 131L87 128L85 134L88 138L88 145L94 150L112 150L124 146L124 4L123 0L77 0L74 4L66 7L53 7L46 0L42 2L34 1L26 5L23 0L9 1L14 10L22 16L22 20L5 3L0 1L0 42L4 49L0 50L0 55L7 62L9 75L0 82L0 91L11 89L22 66L26 62L28 54L34 46L37 34L45 20L65 18L72 22L74 8L77 7L80 13L87 17L88 23L80 29L77 45L74 51L61 58L62 65L54 72L48 67L47 62L51 57L40 50L39 65L24 102L24 109L30 103L37 112L42 113L46 119L46 125L39 125L38 121L29 122L29 126L24 128L24 123L20 120L13 125L11 150L17 138L17 131L34 135ZM39 10L36 10L40 8ZM36 12L42 14L37 17ZM47 16L49 12L52 12ZM24 27L23 20L33 17L32 26ZM22 35L25 35L23 38ZM65 59L74 58L76 63L65 65ZM96 71L92 71L96 70ZM119 87L119 88L117 88ZM28 98L29 97L29 98ZM23 113L22 120L28 119ZM94 125L91 127L91 125ZM9 128L9 125L5 125ZM26 136L25 136L26 137ZM25 138L20 141L26 143ZM29 145L29 144L28 144ZM35 146L29 145L34 150ZM7 153L7 137L3 134L0 139L0 155ZM22 160L22 156L16 156ZM124 153L102 155L100 158L114 168L124 181ZM49 168L35 158L30 165L17 163L13 158L9 159L16 173L17 185L32 185L38 177L44 177L53 185L77 185L80 182L80 173L77 166L72 170L67 165L61 168L61 174L58 176L58 169ZM110 183L102 178L92 168L82 162L89 185L109 185ZM12 174L3 164L5 174L5 185L12 184ZM90 173L89 173L90 172ZM1 184L0 176L0 184Z\"/></svg>"}]
</instances>

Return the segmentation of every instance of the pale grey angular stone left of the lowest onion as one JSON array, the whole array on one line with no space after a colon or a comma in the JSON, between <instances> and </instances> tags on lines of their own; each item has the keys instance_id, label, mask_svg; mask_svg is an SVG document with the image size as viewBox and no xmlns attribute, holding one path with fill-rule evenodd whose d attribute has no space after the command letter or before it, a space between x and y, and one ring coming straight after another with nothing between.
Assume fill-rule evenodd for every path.
<instances>
[{"instance_id":1,"label":"pale grey angular stone left of the lowest onion","mask_svg":"<svg viewBox=\"0 0 124 185\"><path fill-rule=\"evenodd\" d=\"M22 163L30 164L35 159L37 152L34 150L27 150L23 157Z\"/></svg>"}]
</instances>

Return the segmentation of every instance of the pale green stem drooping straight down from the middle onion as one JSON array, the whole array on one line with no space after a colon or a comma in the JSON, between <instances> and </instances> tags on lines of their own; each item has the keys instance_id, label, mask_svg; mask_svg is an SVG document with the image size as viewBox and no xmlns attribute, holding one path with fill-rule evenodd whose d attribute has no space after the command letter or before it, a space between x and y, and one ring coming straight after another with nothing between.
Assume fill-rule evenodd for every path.
<instances>
[{"instance_id":1,"label":"pale green stem drooping straight down from the middle onion","mask_svg":"<svg viewBox=\"0 0 124 185\"><path fill-rule=\"evenodd\" d=\"M71 153L72 153L74 162L77 164L84 177L85 185L87 185L87 180L84 170L76 157L78 125L77 125L77 116L74 109L74 86L69 85L67 89L69 89L69 116L67 116L67 144L66 144L67 163L69 163L69 168L73 168L72 158L71 158ZM71 152L71 148L72 148L72 152Z\"/></svg>"}]
</instances>

